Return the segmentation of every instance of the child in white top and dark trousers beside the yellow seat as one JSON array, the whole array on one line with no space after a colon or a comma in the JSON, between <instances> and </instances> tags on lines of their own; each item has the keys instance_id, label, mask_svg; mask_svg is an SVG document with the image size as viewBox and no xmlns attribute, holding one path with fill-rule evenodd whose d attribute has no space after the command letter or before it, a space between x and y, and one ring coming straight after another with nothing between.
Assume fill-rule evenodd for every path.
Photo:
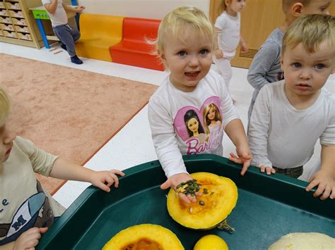
<instances>
[{"instance_id":1,"label":"child in white top and dark trousers beside the yellow seat","mask_svg":"<svg viewBox=\"0 0 335 250\"><path fill-rule=\"evenodd\" d=\"M68 6L63 4L63 0L42 0L43 6L47 10L54 35L61 41L61 48L65 49L71 57L71 62L82 64L80 58L76 55L75 42L81 37L81 33L74 27L71 27L67 20L66 11L81 12L85 9L83 6Z\"/></svg>"}]
</instances>

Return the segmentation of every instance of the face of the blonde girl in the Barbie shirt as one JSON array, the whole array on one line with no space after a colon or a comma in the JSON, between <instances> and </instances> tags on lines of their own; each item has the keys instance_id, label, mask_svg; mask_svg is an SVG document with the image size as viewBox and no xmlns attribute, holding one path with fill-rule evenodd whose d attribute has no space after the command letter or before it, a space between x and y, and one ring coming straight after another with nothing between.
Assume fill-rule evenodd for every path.
<instances>
[{"instance_id":1,"label":"face of the blonde girl in the Barbie shirt","mask_svg":"<svg viewBox=\"0 0 335 250\"><path fill-rule=\"evenodd\" d=\"M192 92L212 63L213 38L185 26L180 37L165 37L163 61L170 69L170 81L183 92Z\"/></svg>"}]
</instances>

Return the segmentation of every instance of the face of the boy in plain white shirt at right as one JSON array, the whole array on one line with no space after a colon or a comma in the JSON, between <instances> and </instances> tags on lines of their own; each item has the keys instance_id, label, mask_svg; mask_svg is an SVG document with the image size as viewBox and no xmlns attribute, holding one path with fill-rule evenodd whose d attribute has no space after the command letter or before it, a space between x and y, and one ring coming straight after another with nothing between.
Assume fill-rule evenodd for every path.
<instances>
[{"instance_id":1,"label":"face of the boy in plain white shirt at right","mask_svg":"<svg viewBox=\"0 0 335 250\"><path fill-rule=\"evenodd\" d=\"M314 96L326 83L334 70L335 49L327 41L319 44L314 53L306 51L300 43L286 47L281 58L286 90L298 96Z\"/></svg>"}]
</instances>

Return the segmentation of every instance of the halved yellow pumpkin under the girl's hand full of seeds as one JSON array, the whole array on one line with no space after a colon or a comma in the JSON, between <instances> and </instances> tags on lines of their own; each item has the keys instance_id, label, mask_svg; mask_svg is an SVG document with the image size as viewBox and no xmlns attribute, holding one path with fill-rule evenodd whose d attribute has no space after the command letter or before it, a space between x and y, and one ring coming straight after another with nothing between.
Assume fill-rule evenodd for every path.
<instances>
[{"instance_id":1,"label":"halved yellow pumpkin under the girl's hand full of seeds","mask_svg":"<svg viewBox=\"0 0 335 250\"><path fill-rule=\"evenodd\" d=\"M191 177L201 185L199 191L203 195L196 197L196 203L185 204L175 189L170 189L167 194L170 216L180 225L196 230L208 230L225 222L237 202L237 187L233 180L204 172L193 173Z\"/></svg>"}]
</instances>

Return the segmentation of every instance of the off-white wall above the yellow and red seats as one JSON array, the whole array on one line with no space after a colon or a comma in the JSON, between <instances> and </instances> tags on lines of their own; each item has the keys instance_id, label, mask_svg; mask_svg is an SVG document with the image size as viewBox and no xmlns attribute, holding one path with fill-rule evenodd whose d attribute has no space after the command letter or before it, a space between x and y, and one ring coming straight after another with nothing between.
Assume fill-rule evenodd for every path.
<instances>
[{"instance_id":1,"label":"off-white wall above the yellow and red seats","mask_svg":"<svg viewBox=\"0 0 335 250\"><path fill-rule=\"evenodd\" d=\"M162 19L177 6L189 5L209 13L210 0L78 0L85 13L122 15L133 18Z\"/></svg>"}]
</instances>

